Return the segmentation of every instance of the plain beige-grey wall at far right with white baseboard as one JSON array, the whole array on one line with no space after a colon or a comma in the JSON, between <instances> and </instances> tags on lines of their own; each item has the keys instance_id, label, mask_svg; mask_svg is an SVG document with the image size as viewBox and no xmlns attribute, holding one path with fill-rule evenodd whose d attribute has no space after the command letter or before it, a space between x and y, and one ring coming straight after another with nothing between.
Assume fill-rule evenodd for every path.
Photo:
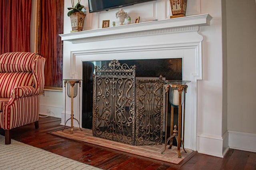
<instances>
[{"instance_id":1,"label":"plain beige-grey wall at far right with white baseboard","mask_svg":"<svg viewBox=\"0 0 256 170\"><path fill-rule=\"evenodd\" d=\"M256 2L226 0L231 148L256 152Z\"/></svg>"}]
</instances>

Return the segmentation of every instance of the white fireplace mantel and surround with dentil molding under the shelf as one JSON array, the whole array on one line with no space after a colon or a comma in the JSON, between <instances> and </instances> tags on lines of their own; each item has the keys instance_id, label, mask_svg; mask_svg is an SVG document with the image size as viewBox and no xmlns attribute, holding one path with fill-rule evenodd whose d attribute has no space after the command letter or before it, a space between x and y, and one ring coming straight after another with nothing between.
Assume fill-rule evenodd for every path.
<instances>
[{"instance_id":1,"label":"white fireplace mantel and surround with dentil molding under the shelf","mask_svg":"<svg viewBox=\"0 0 256 170\"><path fill-rule=\"evenodd\" d=\"M201 14L60 35L68 47L64 48L64 58L70 59L63 65L63 76L82 79L86 61L181 58L182 79L191 81L186 94L184 145L196 150L197 81L202 80L203 41L198 31L210 25L210 20L208 14ZM82 88L80 92L83 94ZM74 116L82 119L79 101L82 96L74 99Z\"/></svg>"}]
</instances>

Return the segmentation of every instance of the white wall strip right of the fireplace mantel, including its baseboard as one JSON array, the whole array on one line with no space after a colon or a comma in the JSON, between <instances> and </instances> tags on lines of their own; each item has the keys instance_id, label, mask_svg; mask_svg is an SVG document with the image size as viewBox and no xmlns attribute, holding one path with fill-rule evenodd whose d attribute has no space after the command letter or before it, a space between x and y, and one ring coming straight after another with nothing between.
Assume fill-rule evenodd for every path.
<instances>
[{"instance_id":1,"label":"white wall strip right of the fireplace mantel, including its baseboard","mask_svg":"<svg viewBox=\"0 0 256 170\"><path fill-rule=\"evenodd\" d=\"M198 81L197 150L223 156L222 138L222 12L221 0L201 0L201 13L209 13L211 25L202 27L203 80ZM224 148L223 148L224 147Z\"/></svg>"}]
</instances>

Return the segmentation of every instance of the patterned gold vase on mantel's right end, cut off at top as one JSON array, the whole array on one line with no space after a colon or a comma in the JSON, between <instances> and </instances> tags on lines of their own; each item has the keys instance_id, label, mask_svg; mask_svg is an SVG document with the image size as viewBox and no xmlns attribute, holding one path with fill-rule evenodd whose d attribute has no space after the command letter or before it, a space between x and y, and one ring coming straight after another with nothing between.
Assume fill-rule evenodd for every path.
<instances>
[{"instance_id":1,"label":"patterned gold vase on mantel's right end, cut off at top","mask_svg":"<svg viewBox=\"0 0 256 170\"><path fill-rule=\"evenodd\" d=\"M187 0L170 0L172 16L170 18L186 16Z\"/></svg>"}]
</instances>

